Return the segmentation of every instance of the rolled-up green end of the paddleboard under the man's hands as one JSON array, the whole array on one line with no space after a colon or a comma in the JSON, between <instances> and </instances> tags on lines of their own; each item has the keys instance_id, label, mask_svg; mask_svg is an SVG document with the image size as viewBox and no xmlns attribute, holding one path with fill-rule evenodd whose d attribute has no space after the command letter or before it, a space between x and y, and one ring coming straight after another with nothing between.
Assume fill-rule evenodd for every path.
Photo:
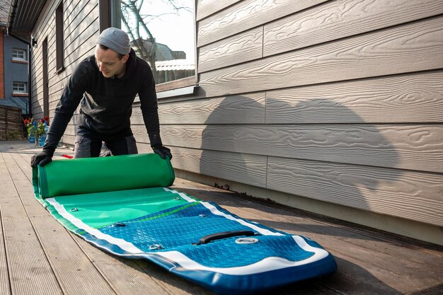
<instances>
[{"instance_id":1,"label":"rolled-up green end of the paddleboard under the man's hands","mask_svg":"<svg viewBox=\"0 0 443 295\"><path fill-rule=\"evenodd\" d=\"M55 197L168 187L175 175L171 161L157 154L55 160L34 170L35 195ZM37 183L38 182L38 183Z\"/></svg>"}]
</instances>

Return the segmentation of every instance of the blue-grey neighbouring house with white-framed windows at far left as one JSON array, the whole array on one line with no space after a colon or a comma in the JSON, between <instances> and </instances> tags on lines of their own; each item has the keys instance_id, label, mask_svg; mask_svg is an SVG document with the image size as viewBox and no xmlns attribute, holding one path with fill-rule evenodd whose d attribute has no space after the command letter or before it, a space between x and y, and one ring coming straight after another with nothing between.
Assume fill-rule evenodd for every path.
<instances>
[{"instance_id":1,"label":"blue-grey neighbouring house with white-framed windows at far left","mask_svg":"<svg viewBox=\"0 0 443 295\"><path fill-rule=\"evenodd\" d=\"M8 35L5 3L10 1L1 1L0 10L0 105L21 108L22 114L28 114L28 45Z\"/></svg>"}]
</instances>

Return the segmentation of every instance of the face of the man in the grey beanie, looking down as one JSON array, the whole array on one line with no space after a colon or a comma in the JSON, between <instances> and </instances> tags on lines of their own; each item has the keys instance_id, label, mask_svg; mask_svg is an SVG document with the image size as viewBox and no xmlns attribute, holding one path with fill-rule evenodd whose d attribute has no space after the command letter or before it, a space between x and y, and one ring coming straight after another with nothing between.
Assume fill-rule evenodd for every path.
<instances>
[{"instance_id":1,"label":"face of the man in the grey beanie, looking down","mask_svg":"<svg viewBox=\"0 0 443 295\"><path fill-rule=\"evenodd\" d=\"M96 46L96 62L101 74L106 78L118 76L125 69L129 55L126 54L122 59L118 58L118 53L114 50L104 50L100 45Z\"/></svg>"}]
</instances>

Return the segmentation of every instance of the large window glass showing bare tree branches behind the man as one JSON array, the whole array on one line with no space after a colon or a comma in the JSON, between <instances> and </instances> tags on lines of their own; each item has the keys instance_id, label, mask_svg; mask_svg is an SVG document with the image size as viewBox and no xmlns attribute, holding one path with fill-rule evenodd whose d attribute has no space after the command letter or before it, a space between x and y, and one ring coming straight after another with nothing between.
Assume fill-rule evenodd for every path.
<instances>
[{"instance_id":1,"label":"large window glass showing bare tree branches behind the man","mask_svg":"<svg viewBox=\"0 0 443 295\"><path fill-rule=\"evenodd\" d=\"M112 2L110 24L128 33L137 56L151 66L157 91L195 85L194 2Z\"/></svg>"}]
</instances>

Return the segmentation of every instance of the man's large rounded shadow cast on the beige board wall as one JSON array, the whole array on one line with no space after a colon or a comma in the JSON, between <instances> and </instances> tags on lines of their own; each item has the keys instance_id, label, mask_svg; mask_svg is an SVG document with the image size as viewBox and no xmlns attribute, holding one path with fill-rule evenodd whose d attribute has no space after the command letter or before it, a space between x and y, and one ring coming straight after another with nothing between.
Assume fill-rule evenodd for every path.
<instances>
[{"instance_id":1,"label":"man's large rounded shadow cast on the beige board wall","mask_svg":"<svg viewBox=\"0 0 443 295\"><path fill-rule=\"evenodd\" d=\"M399 204L389 199L401 177L401 170L389 169L399 161L384 135L392 129L368 124L332 99L269 96L226 98L209 115L202 133L200 173L401 214Z\"/></svg>"}]
</instances>

